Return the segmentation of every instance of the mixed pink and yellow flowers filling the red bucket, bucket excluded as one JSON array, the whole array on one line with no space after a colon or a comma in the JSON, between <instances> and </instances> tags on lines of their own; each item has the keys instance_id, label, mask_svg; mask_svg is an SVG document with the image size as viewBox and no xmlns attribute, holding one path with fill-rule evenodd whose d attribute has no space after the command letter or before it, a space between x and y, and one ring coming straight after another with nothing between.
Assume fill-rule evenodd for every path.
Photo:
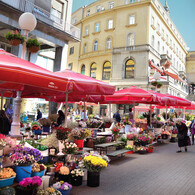
<instances>
[{"instance_id":1,"label":"mixed pink and yellow flowers filling the red bucket, bucket excluded","mask_svg":"<svg viewBox=\"0 0 195 195\"><path fill-rule=\"evenodd\" d=\"M88 129L83 129L83 128L76 127L71 131L70 138L71 139L76 139L76 140L83 140L86 137L88 137L89 135L91 135L91 132L89 132Z\"/></svg>"}]
</instances>

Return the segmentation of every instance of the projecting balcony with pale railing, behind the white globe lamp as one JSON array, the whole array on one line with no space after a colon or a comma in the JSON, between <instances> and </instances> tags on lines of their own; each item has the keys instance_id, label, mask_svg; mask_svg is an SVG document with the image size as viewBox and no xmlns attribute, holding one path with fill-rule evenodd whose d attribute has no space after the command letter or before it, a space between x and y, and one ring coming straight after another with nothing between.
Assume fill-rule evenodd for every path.
<instances>
[{"instance_id":1,"label":"projecting balcony with pale railing, behind the white globe lamp","mask_svg":"<svg viewBox=\"0 0 195 195\"><path fill-rule=\"evenodd\" d=\"M2 11L7 10L10 15L13 14L17 17L20 16L22 12L31 12L38 21L37 29L40 27L40 30L43 31L45 28L47 33L48 29L46 30L46 28L50 26L52 29L55 28L56 30L66 33L69 37L67 38L68 41L80 40L80 29L65 22L61 18L52 15L28 0L0 0L0 7ZM16 19L16 17L14 19ZM50 31L52 31L52 29L50 28Z\"/></svg>"}]
</instances>

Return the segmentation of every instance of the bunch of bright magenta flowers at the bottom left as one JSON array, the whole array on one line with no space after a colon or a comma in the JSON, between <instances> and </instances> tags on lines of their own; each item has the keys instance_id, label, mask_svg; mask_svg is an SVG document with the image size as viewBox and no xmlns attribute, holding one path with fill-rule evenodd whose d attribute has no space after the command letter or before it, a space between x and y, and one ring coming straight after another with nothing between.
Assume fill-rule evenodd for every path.
<instances>
[{"instance_id":1,"label":"bunch of bright magenta flowers at the bottom left","mask_svg":"<svg viewBox=\"0 0 195 195\"><path fill-rule=\"evenodd\" d=\"M39 187L42 184L42 180L39 176L34 176L33 178L24 178L22 181L20 181L18 189L22 191L30 191L37 187Z\"/></svg>"}]
</instances>

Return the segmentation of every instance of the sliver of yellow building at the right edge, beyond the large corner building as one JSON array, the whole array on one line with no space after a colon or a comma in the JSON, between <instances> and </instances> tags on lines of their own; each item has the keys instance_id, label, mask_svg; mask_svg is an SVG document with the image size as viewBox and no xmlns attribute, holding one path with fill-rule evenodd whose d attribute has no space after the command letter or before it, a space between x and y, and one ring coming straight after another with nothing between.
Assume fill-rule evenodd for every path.
<instances>
[{"instance_id":1,"label":"sliver of yellow building at the right edge, beyond the large corner building","mask_svg":"<svg viewBox=\"0 0 195 195\"><path fill-rule=\"evenodd\" d=\"M190 51L187 55L186 73L189 82L188 99L195 101L195 51Z\"/></svg>"}]
</instances>

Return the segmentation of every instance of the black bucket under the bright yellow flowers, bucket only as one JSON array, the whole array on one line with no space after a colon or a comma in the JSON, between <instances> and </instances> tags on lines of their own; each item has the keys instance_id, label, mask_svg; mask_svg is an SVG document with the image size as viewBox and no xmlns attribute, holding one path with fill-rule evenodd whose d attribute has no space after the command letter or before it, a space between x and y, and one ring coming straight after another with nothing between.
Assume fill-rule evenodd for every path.
<instances>
[{"instance_id":1,"label":"black bucket under the bright yellow flowers, bucket only","mask_svg":"<svg viewBox=\"0 0 195 195\"><path fill-rule=\"evenodd\" d=\"M87 171L87 186L98 187L100 185L100 172Z\"/></svg>"}]
</instances>

